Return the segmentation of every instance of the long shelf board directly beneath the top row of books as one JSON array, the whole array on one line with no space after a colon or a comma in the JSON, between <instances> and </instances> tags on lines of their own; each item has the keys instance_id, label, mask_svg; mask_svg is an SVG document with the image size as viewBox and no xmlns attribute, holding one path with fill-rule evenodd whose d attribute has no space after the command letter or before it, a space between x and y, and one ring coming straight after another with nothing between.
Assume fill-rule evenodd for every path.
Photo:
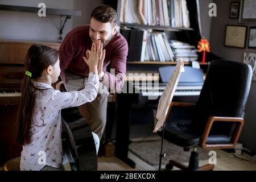
<instances>
[{"instance_id":1,"label":"long shelf board directly beneath the top row of books","mask_svg":"<svg viewBox=\"0 0 256 182\"><path fill-rule=\"evenodd\" d=\"M121 27L131 27L131 28L148 28L154 30L167 30L167 31L183 31L189 30L193 31L193 28L179 28L179 27L167 27L167 26L152 26L146 24L136 24L136 23L121 23Z\"/></svg>"}]
</instances>

